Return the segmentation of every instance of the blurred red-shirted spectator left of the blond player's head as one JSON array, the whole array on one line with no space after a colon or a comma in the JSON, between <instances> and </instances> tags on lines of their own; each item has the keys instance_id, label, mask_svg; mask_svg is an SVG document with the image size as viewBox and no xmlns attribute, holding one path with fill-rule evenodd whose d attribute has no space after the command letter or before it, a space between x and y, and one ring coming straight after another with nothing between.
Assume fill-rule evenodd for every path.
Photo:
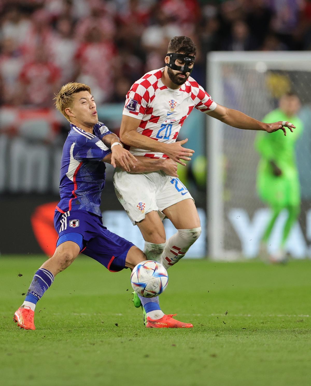
<instances>
[{"instance_id":1,"label":"blurred red-shirted spectator left of the blond player's head","mask_svg":"<svg viewBox=\"0 0 311 386\"><path fill-rule=\"evenodd\" d=\"M53 105L59 88L60 71L48 59L44 47L36 48L32 61L25 63L20 73L17 100L25 105L48 107Z\"/></svg>"}]
</instances>

